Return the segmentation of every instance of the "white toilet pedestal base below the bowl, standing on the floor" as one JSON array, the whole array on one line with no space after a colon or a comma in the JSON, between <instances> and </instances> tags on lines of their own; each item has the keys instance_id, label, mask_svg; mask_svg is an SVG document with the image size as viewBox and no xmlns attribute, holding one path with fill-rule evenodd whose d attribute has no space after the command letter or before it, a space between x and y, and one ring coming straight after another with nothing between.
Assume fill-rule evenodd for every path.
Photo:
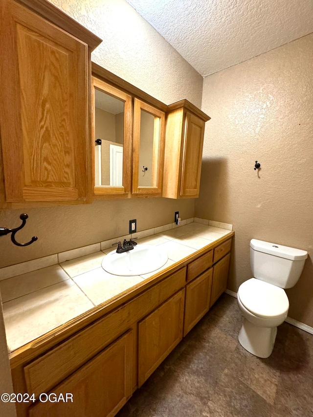
<instances>
[{"instance_id":1,"label":"white toilet pedestal base below the bowl, standing on the floor","mask_svg":"<svg viewBox=\"0 0 313 417\"><path fill-rule=\"evenodd\" d=\"M260 327L244 319L239 332L239 343L246 351L259 358L268 358L274 348L277 327Z\"/></svg>"}]
</instances>

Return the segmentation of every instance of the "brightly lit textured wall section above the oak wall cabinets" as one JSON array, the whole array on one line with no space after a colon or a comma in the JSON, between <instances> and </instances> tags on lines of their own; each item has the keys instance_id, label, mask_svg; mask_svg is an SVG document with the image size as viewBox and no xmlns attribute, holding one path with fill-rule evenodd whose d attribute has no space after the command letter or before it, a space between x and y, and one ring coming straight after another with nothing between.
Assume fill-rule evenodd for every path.
<instances>
[{"instance_id":1,"label":"brightly lit textured wall section above the oak wall cabinets","mask_svg":"<svg viewBox=\"0 0 313 417\"><path fill-rule=\"evenodd\" d=\"M201 76L125 0L50 1L103 40L92 61L166 104L201 106Z\"/></svg>"}]
</instances>

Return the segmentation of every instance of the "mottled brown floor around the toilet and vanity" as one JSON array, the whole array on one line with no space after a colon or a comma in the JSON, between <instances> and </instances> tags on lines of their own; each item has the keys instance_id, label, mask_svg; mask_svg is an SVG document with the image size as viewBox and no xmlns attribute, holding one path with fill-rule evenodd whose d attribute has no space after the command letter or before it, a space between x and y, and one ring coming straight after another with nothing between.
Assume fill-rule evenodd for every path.
<instances>
[{"instance_id":1,"label":"mottled brown floor around the toilet and vanity","mask_svg":"<svg viewBox=\"0 0 313 417\"><path fill-rule=\"evenodd\" d=\"M283 323L260 359L239 344L241 324L223 294L117 417L313 416L313 335Z\"/></svg>"}]
</instances>

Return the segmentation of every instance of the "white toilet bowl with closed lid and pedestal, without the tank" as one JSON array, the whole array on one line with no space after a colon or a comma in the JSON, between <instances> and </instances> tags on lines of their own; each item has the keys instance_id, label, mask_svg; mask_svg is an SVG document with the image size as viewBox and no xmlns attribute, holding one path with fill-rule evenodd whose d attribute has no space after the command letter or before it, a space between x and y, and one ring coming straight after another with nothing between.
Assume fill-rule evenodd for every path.
<instances>
[{"instance_id":1,"label":"white toilet bowl with closed lid and pedestal, without the tank","mask_svg":"<svg viewBox=\"0 0 313 417\"><path fill-rule=\"evenodd\" d=\"M240 286L237 302L244 316L238 336L240 344L253 355L268 358L274 348L277 326L288 314L285 291L251 278Z\"/></svg>"}]
</instances>

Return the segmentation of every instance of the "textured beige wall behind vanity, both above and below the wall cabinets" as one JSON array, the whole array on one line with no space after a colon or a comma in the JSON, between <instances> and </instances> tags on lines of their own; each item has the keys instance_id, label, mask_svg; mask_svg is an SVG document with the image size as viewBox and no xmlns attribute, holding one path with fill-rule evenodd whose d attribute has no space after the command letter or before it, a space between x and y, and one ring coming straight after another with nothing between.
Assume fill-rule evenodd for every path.
<instances>
[{"instance_id":1,"label":"textured beige wall behind vanity, both above and below the wall cabinets","mask_svg":"<svg viewBox=\"0 0 313 417\"><path fill-rule=\"evenodd\" d=\"M202 78L124 0L53 0L55 5L103 39L92 59L166 104L187 98L201 106ZM28 225L17 235L39 240L24 248L9 237L0 242L0 267L128 233L128 220L143 230L172 222L174 212L194 216L194 199L103 200L89 205L27 209ZM20 224L19 210L1 210L0 226Z\"/></svg>"}]
</instances>

